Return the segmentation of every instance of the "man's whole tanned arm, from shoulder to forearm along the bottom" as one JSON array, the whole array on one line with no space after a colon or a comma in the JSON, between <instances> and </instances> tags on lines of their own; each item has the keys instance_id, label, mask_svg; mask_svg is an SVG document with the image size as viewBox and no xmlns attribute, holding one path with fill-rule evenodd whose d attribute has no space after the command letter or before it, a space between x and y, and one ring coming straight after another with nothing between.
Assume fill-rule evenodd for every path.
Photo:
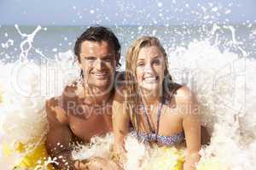
<instances>
[{"instance_id":1,"label":"man's whole tanned arm, from shoulder to forearm along the bottom","mask_svg":"<svg viewBox=\"0 0 256 170\"><path fill-rule=\"evenodd\" d=\"M111 169L120 170L114 161L108 161L100 157L92 157L88 160L73 161L72 143L73 134L68 127L66 112L58 105L57 99L46 101L46 112L49 122L49 133L47 133L46 148L57 164L53 164L60 170L96 170Z\"/></svg>"}]
</instances>

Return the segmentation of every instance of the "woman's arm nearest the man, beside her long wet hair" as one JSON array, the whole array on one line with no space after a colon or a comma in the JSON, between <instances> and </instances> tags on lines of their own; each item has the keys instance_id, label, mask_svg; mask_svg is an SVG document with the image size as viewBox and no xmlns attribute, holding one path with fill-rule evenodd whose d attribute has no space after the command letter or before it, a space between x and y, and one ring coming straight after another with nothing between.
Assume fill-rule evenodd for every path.
<instances>
[{"instance_id":1,"label":"woman's arm nearest the man, beside her long wet hair","mask_svg":"<svg viewBox=\"0 0 256 170\"><path fill-rule=\"evenodd\" d=\"M130 117L125 112L125 99L123 91L117 90L113 98L112 120L113 120L113 135L114 135L114 156L124 158L125 154L125 136L129 132ZM119 160L122 162L122 160ZM124 160L123 160L124 161Z\"/></svg>"}]
</instances>

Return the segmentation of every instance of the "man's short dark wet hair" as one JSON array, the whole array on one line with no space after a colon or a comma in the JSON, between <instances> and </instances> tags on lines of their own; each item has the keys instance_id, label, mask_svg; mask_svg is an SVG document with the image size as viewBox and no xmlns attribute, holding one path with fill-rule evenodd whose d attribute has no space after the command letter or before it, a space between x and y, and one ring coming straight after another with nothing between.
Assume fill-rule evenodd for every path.
<instances>
[{"instance_id":1,"label":"man's short dark wet hair","mask_svg":"<svg viewBox=\"0 0 256 170\"><path fill-rule=\"evenodd\" d=\"M88 29L84 31L84 33L78 37L77 41L75 42L74 46L74 54L78 57L80 62L80 52L81 52L81 44L84 41L89 42L108 42L111 47L114 49L115 53L117 54L116 63L119 64L119 54L120 54L120 44L118 38L113 34L109 28L104 26L90 26Z\"/></svg>"}]
</instances>

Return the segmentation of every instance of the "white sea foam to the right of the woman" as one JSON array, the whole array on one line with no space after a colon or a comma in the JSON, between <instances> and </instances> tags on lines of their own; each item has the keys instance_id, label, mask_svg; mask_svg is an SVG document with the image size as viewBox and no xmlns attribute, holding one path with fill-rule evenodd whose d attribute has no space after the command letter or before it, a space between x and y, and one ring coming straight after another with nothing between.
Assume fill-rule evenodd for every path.
<instances>
[{"instance_id":1,"label":"white sea foam to the right of the woman","mask_svg":"<svg viewBox=\"0 0 256 170\"><path fill-rule=\"evenodd\" d=\"M172 69L187 72L184 82L197 94L203 122L212 131L204 156L218 156L231 169L253 169L256 60L220 53L208 41L191 42L171 56Z\"/></svg>"}]
</instances>

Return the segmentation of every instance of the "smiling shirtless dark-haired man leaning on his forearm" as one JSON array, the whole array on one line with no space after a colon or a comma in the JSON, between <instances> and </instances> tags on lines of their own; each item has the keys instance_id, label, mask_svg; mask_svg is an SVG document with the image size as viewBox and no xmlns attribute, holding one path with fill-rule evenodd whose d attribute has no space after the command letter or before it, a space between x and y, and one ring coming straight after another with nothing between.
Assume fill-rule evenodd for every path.
<instances>
[{"instance_id":1,"label":"smiling shirtless dark-haired man leaning on his forearm","mask_svg":"<svg viewBox=\"0 0 256 170\"><path fill-rule=\"evenodd\" d=\"M73 161L71 156L74 142L89 142L92 136L112 131L119 40L108 28L90 27L76 41L74 53L81 68L80 80L46 102L49 156L56 159L57 169L119 169L113 161L99 157Z\"/></svg>"}]
</instances>

